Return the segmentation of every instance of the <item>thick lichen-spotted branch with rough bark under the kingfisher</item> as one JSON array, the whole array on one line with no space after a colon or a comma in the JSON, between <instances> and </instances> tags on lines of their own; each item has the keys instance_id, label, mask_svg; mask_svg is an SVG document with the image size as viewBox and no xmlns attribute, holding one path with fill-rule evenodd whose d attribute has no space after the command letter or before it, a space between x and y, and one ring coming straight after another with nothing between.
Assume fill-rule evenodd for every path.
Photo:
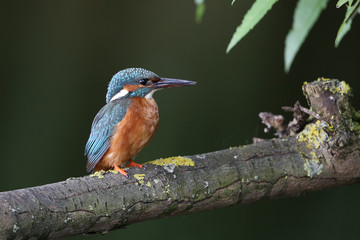
<instances>
[{"instance_id":1,"label":"thick lichen-spotted branch with rough bark under the kingfisher","mask_svg":"<svg viewBox=\"0 0 360 240\"><path fill-rule=\"evenodd\" d=\"M298 196L360 179L358 113L348 85L320 79L303 87L312 111L298 135L174 157L0 193L0 239L105 233L164 216Z\"/></svg>"}]
</instances>

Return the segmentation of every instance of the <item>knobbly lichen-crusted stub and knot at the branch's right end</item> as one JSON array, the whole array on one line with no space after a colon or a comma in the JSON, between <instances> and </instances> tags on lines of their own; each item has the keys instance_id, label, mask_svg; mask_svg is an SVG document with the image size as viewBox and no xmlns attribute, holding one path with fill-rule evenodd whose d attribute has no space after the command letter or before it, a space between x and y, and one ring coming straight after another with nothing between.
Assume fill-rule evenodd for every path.
<instances>
[{"instance_id":1,"label":"knobbly lichen-crusted stub and knot at the branch's right end","mask_svg":"<svg viewBox=\"0 0 360 240\"><path fill-rule=\"evenodd\" d=\"M360 114L350 104L352 90L345 81L319 78L305 82L303 93L310 109L298 101L294 107L283 107L284 111L293 112L292 121L286 123L282 115L267 112L259 116L267 126L265 132L274 128L279 137L296 136L304 170L313 177L322 173L325 162L335 171L335 158L350 143L358 141Z\"/></svg>"}]
</instances>

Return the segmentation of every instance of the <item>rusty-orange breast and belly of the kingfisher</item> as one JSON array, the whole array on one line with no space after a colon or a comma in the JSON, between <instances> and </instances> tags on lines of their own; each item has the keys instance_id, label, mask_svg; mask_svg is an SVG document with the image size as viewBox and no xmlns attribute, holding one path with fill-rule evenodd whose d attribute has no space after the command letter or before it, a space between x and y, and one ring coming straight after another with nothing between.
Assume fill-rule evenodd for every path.
<instances>
[{"instance_id":1,"label":"rusty-orange breast and belly of the kingfisher","mask_svg":"<svg viewBox=\"0 0 360 240\"><path fill-rule=\"evenodd\" d=\"M159 111L155 100L132 98L127 114L115 127L108 151L94 170L108 170L114 164L124 166L146 146L158 124Z\"/></svg>"}]
</instances>

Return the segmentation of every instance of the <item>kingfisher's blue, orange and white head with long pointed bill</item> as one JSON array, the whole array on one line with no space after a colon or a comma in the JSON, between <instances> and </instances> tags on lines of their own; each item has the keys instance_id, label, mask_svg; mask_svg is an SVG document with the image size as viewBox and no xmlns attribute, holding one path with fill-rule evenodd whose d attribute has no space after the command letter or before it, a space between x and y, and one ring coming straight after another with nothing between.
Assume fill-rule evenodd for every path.
<instances>
[{"instance_id":1,"label":"kingfisher's blue, orange and white head with long pointed bill","mask_svg":"<svg viewBox=\"0 0 360 240\"><path fill-rule=\"evenodd\" d=\"M162 78L144 68L127 68L113 76L106 94L106 102L119 98L146 97L160 89L195 85L196 82Z\"/></svg>"}]
</instances>

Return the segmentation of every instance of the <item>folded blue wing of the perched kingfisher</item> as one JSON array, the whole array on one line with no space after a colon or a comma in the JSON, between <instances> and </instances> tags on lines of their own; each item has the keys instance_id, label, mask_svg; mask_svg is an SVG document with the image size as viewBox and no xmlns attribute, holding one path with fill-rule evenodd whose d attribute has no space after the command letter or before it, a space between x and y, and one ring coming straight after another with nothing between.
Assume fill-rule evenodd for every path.
<instances>
[{"instance_id":1,"label":"folded blue wing of the perched kingfisher","mask_svg":"<svg viewBox=\"0 0 360 240\"><path fill-rule=\"evenodd\" d=\"M85 146L85 155L88 157L86 169L89 172L110 147L114 127L125 117L130 101L130 99L111 101L96 114Z\"/></svg>"}]
</instances>

